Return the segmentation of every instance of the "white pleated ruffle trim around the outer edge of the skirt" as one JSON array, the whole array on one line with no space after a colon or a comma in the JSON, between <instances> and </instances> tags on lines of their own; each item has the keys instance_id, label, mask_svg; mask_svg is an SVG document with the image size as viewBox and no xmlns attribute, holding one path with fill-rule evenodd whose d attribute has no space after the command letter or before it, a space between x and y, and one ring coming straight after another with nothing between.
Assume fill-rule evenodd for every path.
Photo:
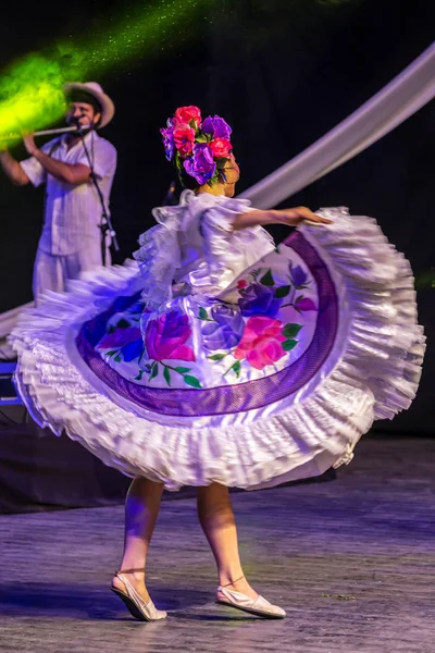
<instances>
[{"instance_id":1,"label":"white pleated ruffle trim around the outer edge of the skirt","mask_svg":"<svg viewBox=\"0 0 435 653\"><path fill-rule=\"evenodd\" d=\"M424 335L417 324L408 261L374 220L327 209L330 229L302 226L320 256L333 261L347 291L349 332L340 362L290 408L251 423L167 427L136 416L97 392L74 365L71 331L140 289L135 266L102 269L26 311L12 334L18 390L41 426L79 441L128 476L166 489L207 485L256 489L322 473L347 463L373 419L407 408L418 387Z\"/></svg>"}]
</instances>

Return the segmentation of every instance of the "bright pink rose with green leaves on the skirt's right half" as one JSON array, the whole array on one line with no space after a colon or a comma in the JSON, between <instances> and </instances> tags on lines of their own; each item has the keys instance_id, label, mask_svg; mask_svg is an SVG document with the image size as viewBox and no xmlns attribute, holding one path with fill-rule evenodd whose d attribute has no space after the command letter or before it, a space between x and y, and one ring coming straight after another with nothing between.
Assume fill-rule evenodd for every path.
<instances>
[{"instance_id":1,"label":"bright pink rose with green leaves on the skirt's right half","mask_svg":"<svg viewBox=\"0 0 435 653\"><path fill-rule=\"evenodd\" d=\"M234 353L238 360L246 358L249 365L262 370L287 354L282 343L286 337L282 333L283 322L269 316L249 318L243 338Z\"/></svg>"}]
</instances>

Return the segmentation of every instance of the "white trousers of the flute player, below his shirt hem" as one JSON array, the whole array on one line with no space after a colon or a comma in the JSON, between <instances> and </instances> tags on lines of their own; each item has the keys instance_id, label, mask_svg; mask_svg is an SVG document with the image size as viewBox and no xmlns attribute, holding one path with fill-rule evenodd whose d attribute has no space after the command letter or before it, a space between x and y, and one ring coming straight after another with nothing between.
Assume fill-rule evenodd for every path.
<instances>
[{"instance_id":1,"label":"white trousers of the flute player, below his shirt hem","mask_svg":"<svg viewBox=\"0 0 435 653\"><path fill-rule=\"evenodd\" d=\"M105 250L105 264L111 264L110 250ZM78 279L85 270L102 264L98 248L86 248L67 256L55 256L38 248L34 266L33 291L35 301L47 291L64 293L70 279Z\"/></svg>"}]
</instances>

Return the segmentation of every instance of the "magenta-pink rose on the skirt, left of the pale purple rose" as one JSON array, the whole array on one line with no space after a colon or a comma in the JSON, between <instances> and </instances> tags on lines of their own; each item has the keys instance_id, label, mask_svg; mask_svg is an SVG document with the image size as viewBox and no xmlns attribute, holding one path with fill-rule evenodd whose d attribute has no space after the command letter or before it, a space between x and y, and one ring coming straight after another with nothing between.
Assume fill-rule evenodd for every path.
<instances>
[{"instance_id":1,"label":"magenta-pink rose on the skirt, left of the pale purple rose","mask_svg":"<svg viewBox=\"0 0 435 653\"><path fill-rule=\"evenodd\" d=\"M145 331L145 346L151 360L195 360L195 353L185 343L190 337L189 319L178 310L150 320Z\"/></svg>"}]
</instances>

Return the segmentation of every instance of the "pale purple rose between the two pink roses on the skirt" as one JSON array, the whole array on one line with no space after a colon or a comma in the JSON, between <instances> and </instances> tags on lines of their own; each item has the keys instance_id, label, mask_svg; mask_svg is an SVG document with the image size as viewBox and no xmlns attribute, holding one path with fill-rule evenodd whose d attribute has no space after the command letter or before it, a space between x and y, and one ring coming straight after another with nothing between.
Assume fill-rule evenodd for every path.
<instances>
[{"instance_id":1,"label":"pale purple rose between the two pink roses on the skirt","mask_svg":"<svg viewBox=\"0 0 435 653\"><path fill-rule=\"evenodd\" d=\"M237 306L217 304L211 309L214 322L202 328L204 348L209 352L231 349L238 345L244 334L245 321Z\"/></svg>"}]
</instances>

